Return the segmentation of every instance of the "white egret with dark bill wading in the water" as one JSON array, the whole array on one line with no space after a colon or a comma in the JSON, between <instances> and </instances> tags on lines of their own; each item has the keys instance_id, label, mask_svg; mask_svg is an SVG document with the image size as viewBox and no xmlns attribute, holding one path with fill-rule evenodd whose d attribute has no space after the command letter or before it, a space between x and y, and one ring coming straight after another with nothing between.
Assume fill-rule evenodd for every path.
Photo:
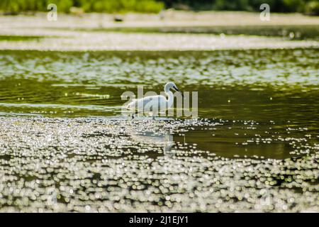
<instances>
[{"instance_id":1,"label":"white egret with dark bill wading in the water","mask_svg":"<svg viewBox=\"0 0 319 227\"><path fill-rule=\"evenodd\" d=\"M166 96L164 95L154 95L146 96L141 99L133 99L126 106L126 109L133 111L132 117L134 117L134 114L138 113L151 113L154 118L155 114L164 112L173 106L174 94L170 91L170 89L174 89L175 91L180 92L173 82L168 82L164 86L164 92L168 96L168 98L166 98ZM181 96L183 96L182 93Z\"/></svg>"}]
</instances>

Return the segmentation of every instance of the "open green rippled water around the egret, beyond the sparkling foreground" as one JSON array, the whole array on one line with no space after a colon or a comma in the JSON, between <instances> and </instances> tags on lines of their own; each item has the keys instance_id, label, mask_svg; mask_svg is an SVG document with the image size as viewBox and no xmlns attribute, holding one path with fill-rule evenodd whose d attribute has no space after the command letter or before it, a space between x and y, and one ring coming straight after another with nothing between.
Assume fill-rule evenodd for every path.
<instances>
[{"instance_id":1,"label":"open green rippled water around the egret, beyond the sparkling foreground","mask_svg":"<svg viewBox=\"0 0 319 227\"><path fill-rule=\"evenodd\" d=\"M166 82L198 92L198 118L225 121L196 128L185 140L218 155L289 157L292 148L272 138L318 135L319 52L2 51L0 113L4 116L107 117L121 114L121 94L162 92ZM168 118L167 118L168 119ZM278 139L278 135L276 137ZM179 136L176 140L179 140ZM242 145L251 140L252 144Z\"/></svg>"}]
</instances>

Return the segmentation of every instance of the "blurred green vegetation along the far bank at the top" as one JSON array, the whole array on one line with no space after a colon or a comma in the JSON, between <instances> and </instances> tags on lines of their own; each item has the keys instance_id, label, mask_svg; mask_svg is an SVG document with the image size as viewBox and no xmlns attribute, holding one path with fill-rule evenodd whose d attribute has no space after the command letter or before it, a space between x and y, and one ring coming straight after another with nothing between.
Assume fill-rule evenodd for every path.
<instances>
[{"instance_id":1,"label":"blurred green vegetation along the far bank at the top","mask_svg":"<svg viewBox=\"0 0 319 227\"><path fill-rule=\"evenodd\" d=\"M57 4L58 11L65 13L69 13L72 6L84 12L106 13L158 13L169 8L193 11L259 11L259 6L267 3L272 12L319 15L319 0L1 0L0 11L47 11L47 5L51 3Z\"/></svg>"}]
</instances>

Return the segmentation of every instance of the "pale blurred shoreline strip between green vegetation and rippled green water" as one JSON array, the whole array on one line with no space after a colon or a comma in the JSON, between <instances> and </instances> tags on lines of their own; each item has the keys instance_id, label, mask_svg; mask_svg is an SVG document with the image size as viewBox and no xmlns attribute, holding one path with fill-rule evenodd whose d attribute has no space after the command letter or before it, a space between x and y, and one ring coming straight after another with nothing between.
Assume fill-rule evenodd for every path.
<instances>
[{"instance_id":1,"label":"pale blurred shoreline strip between green vegetation and rippled green water","mask_svg":"<svg viewBox=\"0 0 319 227\"><path fill-rule=\"evenodd\" d=\"M319 17L273 13L168 11L126 14L123 23L111 14L62 14L47 21L35 16L0 16L1 50L249 50L318 48ZM199 30L198 30L199 29ZM7 37L7 38L6 38ZM132 42L134 40L134 42Z\"/></svg>"}]
</instances>

